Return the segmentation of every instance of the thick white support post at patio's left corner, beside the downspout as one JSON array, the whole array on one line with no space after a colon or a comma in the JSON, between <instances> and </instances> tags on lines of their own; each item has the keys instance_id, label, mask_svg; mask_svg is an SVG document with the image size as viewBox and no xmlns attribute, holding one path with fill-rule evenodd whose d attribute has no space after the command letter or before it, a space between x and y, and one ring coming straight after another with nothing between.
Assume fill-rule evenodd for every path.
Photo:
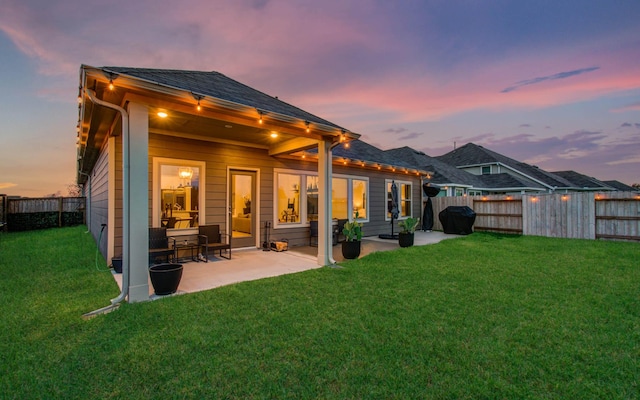
<instances>
[{"instance_id":1,"label":"thick white support post at patio's left corner, beside the downspout","mask_svg":"<svg viewBox=\"0 0 640 400\"><path fill-rule=\"evenodd\" d=\"M149 112L129 104L129 302L149 300ZM127 222L125 221L125 224Z\"/></svg>"}]
</instances>

